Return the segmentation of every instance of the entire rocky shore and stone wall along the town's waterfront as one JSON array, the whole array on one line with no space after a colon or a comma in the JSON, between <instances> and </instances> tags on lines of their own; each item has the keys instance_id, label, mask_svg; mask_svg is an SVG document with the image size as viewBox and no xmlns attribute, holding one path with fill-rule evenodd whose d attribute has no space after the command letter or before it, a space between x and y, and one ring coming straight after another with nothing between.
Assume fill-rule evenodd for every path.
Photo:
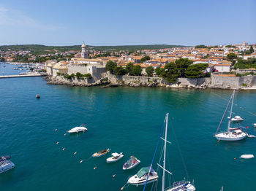
<instances>
[{"instance_id":1,"label":"entire rocky shore and stone wall along the town's waterfront","mask_svg":"<svg viewBox=\"0 0 256 191\"><path fill-rule=\"evenodd\" d=\"M65 79L64 77L45 77L50 85L96 86L108 85L113 87L127 85L131 87L171 87L171 88L217 88L256 90L256 76L226 77L221 74L212 74L205 78L178 78L175 83L168 83L162 77L116 76L108 74L95 82L93 79Z\"/></svg>"}]
</instances>

